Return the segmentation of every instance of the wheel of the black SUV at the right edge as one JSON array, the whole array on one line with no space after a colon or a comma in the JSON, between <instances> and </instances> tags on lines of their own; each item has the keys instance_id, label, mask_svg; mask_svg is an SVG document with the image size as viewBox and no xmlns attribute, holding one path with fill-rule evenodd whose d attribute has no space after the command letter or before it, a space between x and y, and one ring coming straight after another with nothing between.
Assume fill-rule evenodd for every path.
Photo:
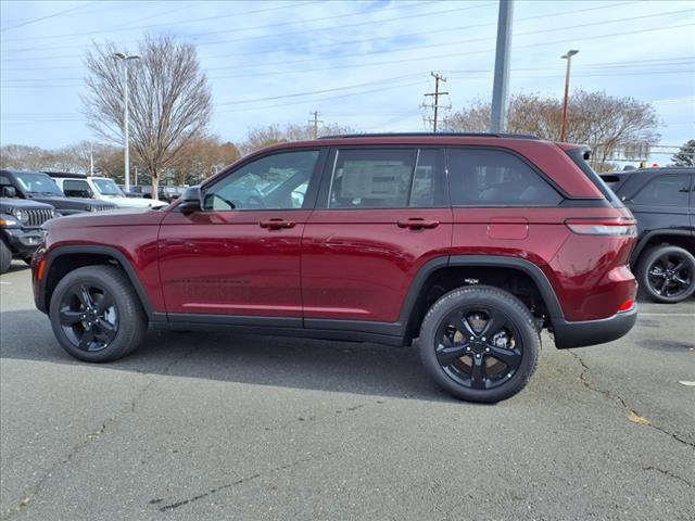
<instances>
[{"instance_id":1,"label":"wheel of the black SUV at the right edge","mask_svg":"<svg viewBox=\"0 0 695 521\"><path fill-rule=\"evenodd\" d=\"M637 281L654 302L681 302L695 292L695 257L680 246L652 247L640 258Z\"/></svg>"}]
</instances>

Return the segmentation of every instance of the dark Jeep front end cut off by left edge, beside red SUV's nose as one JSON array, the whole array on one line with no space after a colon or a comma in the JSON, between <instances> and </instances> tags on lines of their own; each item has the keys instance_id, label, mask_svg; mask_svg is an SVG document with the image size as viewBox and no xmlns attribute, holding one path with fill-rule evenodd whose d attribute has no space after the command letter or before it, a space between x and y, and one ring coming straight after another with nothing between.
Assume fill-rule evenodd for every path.
<instances>
[{"instance_id":1,"label":"dark Jeep front end cut off by left edge, beside red SUV's nose","mask_svg":"<svg viewBox=\"0 0 695 521\"><path fill-rule=\"evenodd\" d=\"M53 217L55 212L50 204L0 198L0 274L10 269L13 258L30 263L43 242L41 225Z\"/></svg>"}]
</instances>

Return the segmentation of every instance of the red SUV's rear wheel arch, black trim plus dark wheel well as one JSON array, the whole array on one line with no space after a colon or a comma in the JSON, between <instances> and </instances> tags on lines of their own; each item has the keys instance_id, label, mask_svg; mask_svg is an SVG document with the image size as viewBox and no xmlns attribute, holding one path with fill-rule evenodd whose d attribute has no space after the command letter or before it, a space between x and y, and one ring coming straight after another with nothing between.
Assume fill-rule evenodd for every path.
<instances>
[{"instance_id":1,"label":"red SUV's rear wheel arch, black trim plus dark wheel well","mask_svg":"<svg viewBox=\"0 0 695 521\"><path fill-rule=\"evenodd\" d=\"M485 280L473 283L500 288L501 284L491 284L488 280L492 274L493 280L507 279L511 283L519 283L520 291L530 291L527 296L540 301L538 304L543 306L549 325L555 319L564 319L563 309L549 280L541 268L530 260L496 255L443 256L429 260L420 268L406 294L399 320L404 325L406 342L417 336L419 326L433 301L453 288L466 285L465 278L482 276ZM447 282L439 285L442 281ZM518 291L509 292L519 296Z\"/></svg>"}]
</instances>

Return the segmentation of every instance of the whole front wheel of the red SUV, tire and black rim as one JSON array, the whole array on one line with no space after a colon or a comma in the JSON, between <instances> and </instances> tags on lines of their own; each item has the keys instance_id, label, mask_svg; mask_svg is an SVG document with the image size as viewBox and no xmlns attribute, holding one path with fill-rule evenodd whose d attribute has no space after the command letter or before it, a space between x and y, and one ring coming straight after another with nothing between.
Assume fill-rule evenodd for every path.
<instances>
[{"instance_id":1,"label":"whole front wheel of the red SUV, tire and black rim","mask_svg":"<svg viewBox=\"0 0 695 521\"><path fill-rule=\"evenodd\" d=\"M67 274L51 296L49 316L61 346L85 361L113 361L130 354L148 329L130 281L111 266L87 266Z\"/></svg>"}]
</instances>

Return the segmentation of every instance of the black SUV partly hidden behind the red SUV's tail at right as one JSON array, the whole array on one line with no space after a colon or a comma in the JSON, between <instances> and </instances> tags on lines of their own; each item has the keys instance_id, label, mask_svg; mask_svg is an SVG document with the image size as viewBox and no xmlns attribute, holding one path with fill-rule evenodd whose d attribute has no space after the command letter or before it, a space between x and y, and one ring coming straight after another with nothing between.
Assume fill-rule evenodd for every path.
<instances>
[{"instance_id":1,"label":"black SUV partly hidden behind the red SUV's tail at right","mask_svg":"<svg viewBox=\"0 0 695 521\"><path fill-rule=\"evenodd\" d=\"M674 303L695 292L695 168L644 168L601 176L637 219L631 266L642 291Z\"/></svg>"}]
</instances>

